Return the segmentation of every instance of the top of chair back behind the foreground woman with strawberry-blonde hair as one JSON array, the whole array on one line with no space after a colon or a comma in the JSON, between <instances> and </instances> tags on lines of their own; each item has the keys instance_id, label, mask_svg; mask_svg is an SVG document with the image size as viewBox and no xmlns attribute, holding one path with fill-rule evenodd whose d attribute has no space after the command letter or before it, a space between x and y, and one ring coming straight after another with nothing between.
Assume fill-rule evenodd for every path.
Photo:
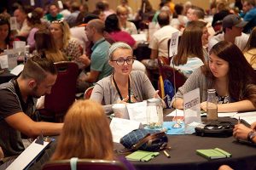
<instances>
[{"instance_id":1,"label":"top of chair back behind the foreground woman with strawberry-blonde hair","mask_svg":"<svg viewBox=\"0 0 256 170\"><path fill-rule=\"evenodd\" d=\"M70 160L49 161L43 170L70 170ZM126 167L120 161L105 161L94 159L79 159L77 161L78 170L126 170Z\"/></svg>"}]
</instances>

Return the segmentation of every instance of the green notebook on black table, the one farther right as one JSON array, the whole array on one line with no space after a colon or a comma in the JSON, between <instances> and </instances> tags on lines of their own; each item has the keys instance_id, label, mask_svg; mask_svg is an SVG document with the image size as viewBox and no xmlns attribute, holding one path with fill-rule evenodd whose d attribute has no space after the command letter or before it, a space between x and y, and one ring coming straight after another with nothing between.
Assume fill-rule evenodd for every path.
<instances>
[{"instance_id":1,"label":"green notebook on black table, the one farther right","mask_svg":"<svg viewBox=\"0 0 256 170\"><path fill-rule=\"evenodd\" d=\"M221 150L219 148L208 149L208 150L196 150L196 153L207 159L219 159L219 158L226 158L226 157L232 156L229 152L225 150Z\"/></svg>"}]
</instances>

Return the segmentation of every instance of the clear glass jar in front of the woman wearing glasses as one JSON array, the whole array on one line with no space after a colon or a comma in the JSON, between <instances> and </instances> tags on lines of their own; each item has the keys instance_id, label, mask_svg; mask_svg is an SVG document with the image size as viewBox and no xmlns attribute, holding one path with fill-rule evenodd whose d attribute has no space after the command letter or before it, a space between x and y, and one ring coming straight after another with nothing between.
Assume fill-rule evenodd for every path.
<instances>
[{"instance_id":1,"label":"clear glass jar in front of the woman wearing glasses","mask_svg":"<svg viewBox=\"0 0 256 170\"><path fill-rule=\"evenodd\" d=\"M163 107L161 99L147 100L148 128L161 128L163 125Z\"/></svg>"}]
</instances>

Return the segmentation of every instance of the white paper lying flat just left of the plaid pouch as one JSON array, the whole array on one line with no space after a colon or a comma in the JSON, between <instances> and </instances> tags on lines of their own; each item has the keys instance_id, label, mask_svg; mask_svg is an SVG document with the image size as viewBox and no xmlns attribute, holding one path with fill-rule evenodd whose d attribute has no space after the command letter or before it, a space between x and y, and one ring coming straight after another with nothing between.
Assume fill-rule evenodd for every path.
<instances>
[{"instance_id":1,"label":"white paper lying flat just left of the plaid pouch","mask_svg":"<svg viewBox=\"0 0 256 170\"><path fill-rule=\"evenodd\" d=\"M113 135L113 142L119 143L125 134L142 127L140 122L113 117L110 122L110 130Z\"/></svg>"}]
</instances>

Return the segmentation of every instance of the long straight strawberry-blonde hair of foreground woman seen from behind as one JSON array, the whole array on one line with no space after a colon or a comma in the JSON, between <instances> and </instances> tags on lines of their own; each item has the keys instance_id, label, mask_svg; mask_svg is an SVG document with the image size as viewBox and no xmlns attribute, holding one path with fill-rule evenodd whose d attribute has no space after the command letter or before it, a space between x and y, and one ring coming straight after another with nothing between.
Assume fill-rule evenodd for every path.
<instances>
[{"instance_id":1,"label":"long straight strawberry-blonde hair of foreground woman seen from behind","mask_svg":"<svg viewBox=\"0 0 256 170\"><path fill-rule=\"evenodd\" d=\"M68 150L71 148L71 150ZM102 105L78 100L67 111L51 160L72 157L113 160L113 139Z\"/></svg>"}]
</instances>

